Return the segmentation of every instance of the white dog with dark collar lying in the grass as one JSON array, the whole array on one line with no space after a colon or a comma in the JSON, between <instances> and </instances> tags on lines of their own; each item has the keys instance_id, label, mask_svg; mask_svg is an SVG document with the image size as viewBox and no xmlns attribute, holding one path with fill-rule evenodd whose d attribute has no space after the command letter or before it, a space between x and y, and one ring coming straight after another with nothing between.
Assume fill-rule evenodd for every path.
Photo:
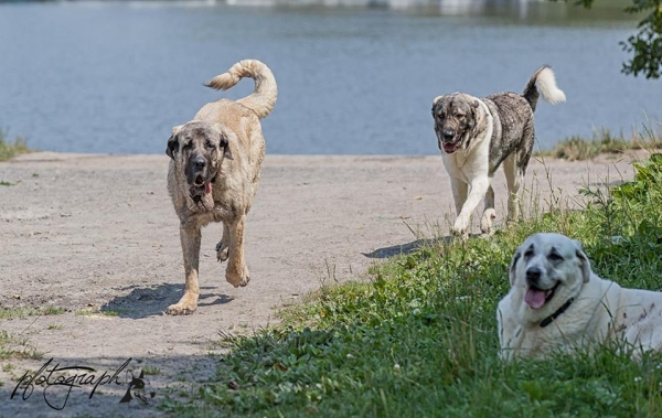
<instances>
[{"instance_id":1,"label":"white dog with dark collar lying in the grass","mask_svg":"<svg viewBox=\"0 0 662 418\"><path fill-rule=\"evenodd\" d=\"M513 256L509 277L512 288L496 310L502 358L612 339L662 350L662 292L599 278L576 240L532 235Z\"/></svg>"}]
</instances>

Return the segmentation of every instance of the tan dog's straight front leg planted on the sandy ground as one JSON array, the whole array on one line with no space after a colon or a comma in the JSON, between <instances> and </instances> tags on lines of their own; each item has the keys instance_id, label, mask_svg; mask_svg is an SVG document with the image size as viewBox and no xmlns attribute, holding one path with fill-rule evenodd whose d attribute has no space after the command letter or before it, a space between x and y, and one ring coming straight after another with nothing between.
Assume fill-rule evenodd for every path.
<instances>
[{"instance_id":1,"label":"tan dog's straight front leg planted on the sandy ground","mask_svg":"<svg viewBox=\"0 0 662 418\"><path fill-rule=\"evenodd\" d=\"M200 227L180 226L180 239L184 254L184 271L186 281L184 283L184 296L175 304L171 304L166 313L171 315L188 315L197 309L200 286L197 283L197 269L200 266L200 242L202 234Z\"/></svg>"}]
</instances>

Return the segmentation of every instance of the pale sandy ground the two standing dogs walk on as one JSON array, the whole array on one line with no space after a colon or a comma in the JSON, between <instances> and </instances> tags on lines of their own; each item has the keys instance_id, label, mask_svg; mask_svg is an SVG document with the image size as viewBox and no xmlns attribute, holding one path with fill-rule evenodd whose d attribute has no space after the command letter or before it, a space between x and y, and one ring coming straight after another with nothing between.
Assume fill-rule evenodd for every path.
<instances>
[{"instance_id":1,"label":"pale sandy ground the two standing dogs walk on","mask_svg":"<svg viewBox=\"0 0 662 418\"><path fill-rule=\"evenodd\" d=\"M162 312L181 297L184 277L166 190L168 161L39 152L0 163L0 181L11 183L0 185L0 306L66 311L0 319L0 332L17 347L24 342L44 355L0 361L0 416L158 416L136 399L119 404L127 385L100 386L92 398L90 385L75 387L60 411L46 400L62 406L66 387L51 386L44 398L44 387L35 385L10 398L17 378L51 357L49 369L60 363L94 367L97 375L115 373L129 358L126 369L158 367L149 381L156 399L163 398L167 386L214 375L209 354L220 350L213 344L220 331L252 332L323 281L360 278L371 262L414 248L410 228L448 231L452 196L440 157L268 156L247 221L250 283L234 289L225 282L214 250L221 227L211 225L203 229L200 307L189 317L169 317ZM533 161L524 201L544 205L552 190L574 196L587 184L629 179L629 161ZM499 221L502 173L494 190ZM540 200L531 197L538 193ZM120 377L124 383L124 371Z\"/></svg>"}]
</instances>

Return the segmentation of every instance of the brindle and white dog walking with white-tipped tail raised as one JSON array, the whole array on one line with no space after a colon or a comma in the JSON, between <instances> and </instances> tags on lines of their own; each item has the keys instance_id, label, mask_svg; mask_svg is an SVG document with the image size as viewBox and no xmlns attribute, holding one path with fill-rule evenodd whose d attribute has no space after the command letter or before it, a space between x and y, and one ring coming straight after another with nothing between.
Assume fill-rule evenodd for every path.
<instances>
[{"instance_id":1,"label":"brindle and white dog walking with white-tipped tail raised","mask_svg":"<svg viewBox=\"0 0 662 418\"><path fill-rule=\"evenodd\" d=\"M498 93L478 98L455 93L433 101L437 143L458 215L455 234L468 234L470 216L483 197L481 231L491 232L496 217L491 183L502 163L509 190L508 219L520 216L520 187L533 150L533 112L541 95L551 104L566 99L546 65L533 74L522 95Z\"/></svg>"}]
</instances>

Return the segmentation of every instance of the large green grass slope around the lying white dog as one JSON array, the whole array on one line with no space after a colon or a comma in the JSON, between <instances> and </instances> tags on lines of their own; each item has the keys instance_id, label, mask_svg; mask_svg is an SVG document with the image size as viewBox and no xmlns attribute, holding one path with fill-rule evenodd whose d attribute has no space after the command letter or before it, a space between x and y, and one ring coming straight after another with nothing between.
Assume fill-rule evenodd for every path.
<instances>
[{"instance_id":1,"label":"large green grass slope around the lying white dog","mask_svg":"<svg viewBox=\"0 0 662 418\"><path fill-rule=\"evenodd\" d=\"M495 310L515 248L536 232L584 243L594 270L662 289L662 154L632 182L583 191L488 239L437 240L323 287L253 336L224 334L213 382L160 407L178 417L660 417L662 355L613 344L499 360ZM180 394L182 395L182 394Z\"/></svg>"}]
</instances>

